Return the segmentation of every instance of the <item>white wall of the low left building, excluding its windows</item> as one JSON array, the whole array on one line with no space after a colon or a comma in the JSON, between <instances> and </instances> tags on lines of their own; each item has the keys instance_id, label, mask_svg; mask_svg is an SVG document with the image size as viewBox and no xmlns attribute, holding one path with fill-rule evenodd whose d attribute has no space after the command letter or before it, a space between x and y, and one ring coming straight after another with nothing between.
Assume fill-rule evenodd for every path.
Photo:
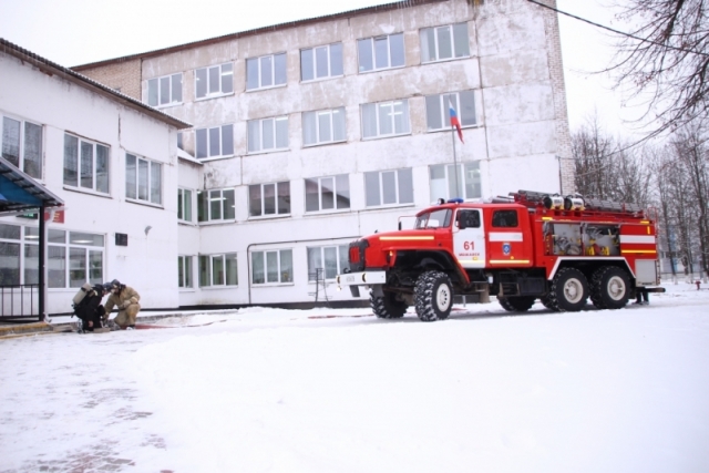
<instances>
[{"instance_id":1,"label":"white wall of the low left building, excluding its windows","mask_svg":"<svg viewBox=\"0 0 709 473\"><path fill-rule=\"evenodd\" d=\"M65 203L64 220L49 222L49 230L103 236L103 270L94 275L95 282L117 278L141 294L144 308L177 307L176 130L6 53L0 53L0 114L42 126L43 168L38 181ZM64 185L66 133L109 146L107 195ZM126 153L162 164L162 205L126 199ZM0 223L38 226L37 220L17 216ZM116 233L127 234L127 246L115 245ZM48 312L71 311L76 290L50 287Z\"/></svg>"}]
</instances>

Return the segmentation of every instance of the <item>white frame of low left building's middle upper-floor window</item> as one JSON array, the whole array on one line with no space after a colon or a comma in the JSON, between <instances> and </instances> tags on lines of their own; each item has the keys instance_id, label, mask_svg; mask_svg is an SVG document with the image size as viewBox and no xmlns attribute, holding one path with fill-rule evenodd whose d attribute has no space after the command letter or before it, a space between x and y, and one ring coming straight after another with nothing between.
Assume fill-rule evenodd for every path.
<instances>
[{"instance_id":1,"label":"white frame of low left building's middle upper-floor window","mask_svg":"<svg viewBox=\"0 0 709 473\"><path fill-rule=\"evenodd\" d=\"M76 142L76 155L69 156L68 155L68 141L73 140ZM85 185L84 181L84 167L86 167L86 162L84 161L84 150L91 148L91 163L89 167L91 168L91 183L90 185ZM101 176L99 164L99 151L105 150L104 153L104 164L105 164L105 176ZM72 160L72 163L68 162L68 160ZM68 172L73 171L68 165L74 164L76 166L76 183L73 184L71 179L68 181ZM111 147L106 144L85 140L71 133L64 133L64 162L62 167L62 182L64 187L70 187L75 191L83 191L90 193L96 193L101 195L110 195L111 194ZM102 182L100 186L99 182Z\"/></svg>"}]
</instances>

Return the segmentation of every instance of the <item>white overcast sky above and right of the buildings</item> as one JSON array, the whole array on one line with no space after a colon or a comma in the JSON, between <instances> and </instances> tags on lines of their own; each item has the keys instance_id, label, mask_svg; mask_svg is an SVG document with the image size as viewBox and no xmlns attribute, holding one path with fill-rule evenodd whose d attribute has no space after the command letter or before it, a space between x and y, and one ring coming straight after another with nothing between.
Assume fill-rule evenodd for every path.
<instances>
[{"instance_id":1,"label":"white overcast sky above and right of the buildings","mask_svg":"<svg viewBox=\"0 0 709 473\"><path fill-rule=\"evenodd\" d=\"M0 37L72 66L390 1L0 0ZM613 1L557 0L557 6L621 28L608 8ZM564 16L559 22L572 131L597 113L610 133L629 134L621 119L637 111L621 109L609 78L592 73L608 64L608 33Z\"/></svg>"}]
</instances>

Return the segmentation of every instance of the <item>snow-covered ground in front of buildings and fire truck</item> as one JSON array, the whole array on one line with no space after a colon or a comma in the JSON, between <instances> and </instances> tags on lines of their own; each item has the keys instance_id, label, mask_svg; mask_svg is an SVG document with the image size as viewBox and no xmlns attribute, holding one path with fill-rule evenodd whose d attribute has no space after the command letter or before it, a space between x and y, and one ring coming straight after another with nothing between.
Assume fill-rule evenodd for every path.
<instances>
[{"instance_id":1,"label":"snow-covered ground in front of buildings and fire truck","mask_svg":"<svg viewBox=\"0 0 709 473\"><path fill-rule=\"evenodd\" d=\"M707 472L709 290L666 287L617 311L254 308L0 340L0 472Z\"/></svg>"}]
</instances>

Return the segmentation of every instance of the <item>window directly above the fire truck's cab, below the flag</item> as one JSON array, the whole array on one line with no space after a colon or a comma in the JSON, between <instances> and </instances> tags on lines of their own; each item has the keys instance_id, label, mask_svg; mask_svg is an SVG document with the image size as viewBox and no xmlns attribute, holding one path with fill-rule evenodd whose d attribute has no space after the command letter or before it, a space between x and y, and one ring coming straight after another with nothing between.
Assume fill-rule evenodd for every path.
<instances>
[{"instance_id":1,"label":"window directly above the fire truck's cab, below the flag","mask_svg":"<svg viewBox=\"0 0 709 473\"><path fill-rule=\"evenodd\" d=\"M456 198L464 199L482 197L482 184L480 178L480 163L436 164L429 168L431 173L431 202L439 198ZM455 185L458 177L458 185ZM463 194L463 195L461 195Z\"/></svg>"}]
</instances>

